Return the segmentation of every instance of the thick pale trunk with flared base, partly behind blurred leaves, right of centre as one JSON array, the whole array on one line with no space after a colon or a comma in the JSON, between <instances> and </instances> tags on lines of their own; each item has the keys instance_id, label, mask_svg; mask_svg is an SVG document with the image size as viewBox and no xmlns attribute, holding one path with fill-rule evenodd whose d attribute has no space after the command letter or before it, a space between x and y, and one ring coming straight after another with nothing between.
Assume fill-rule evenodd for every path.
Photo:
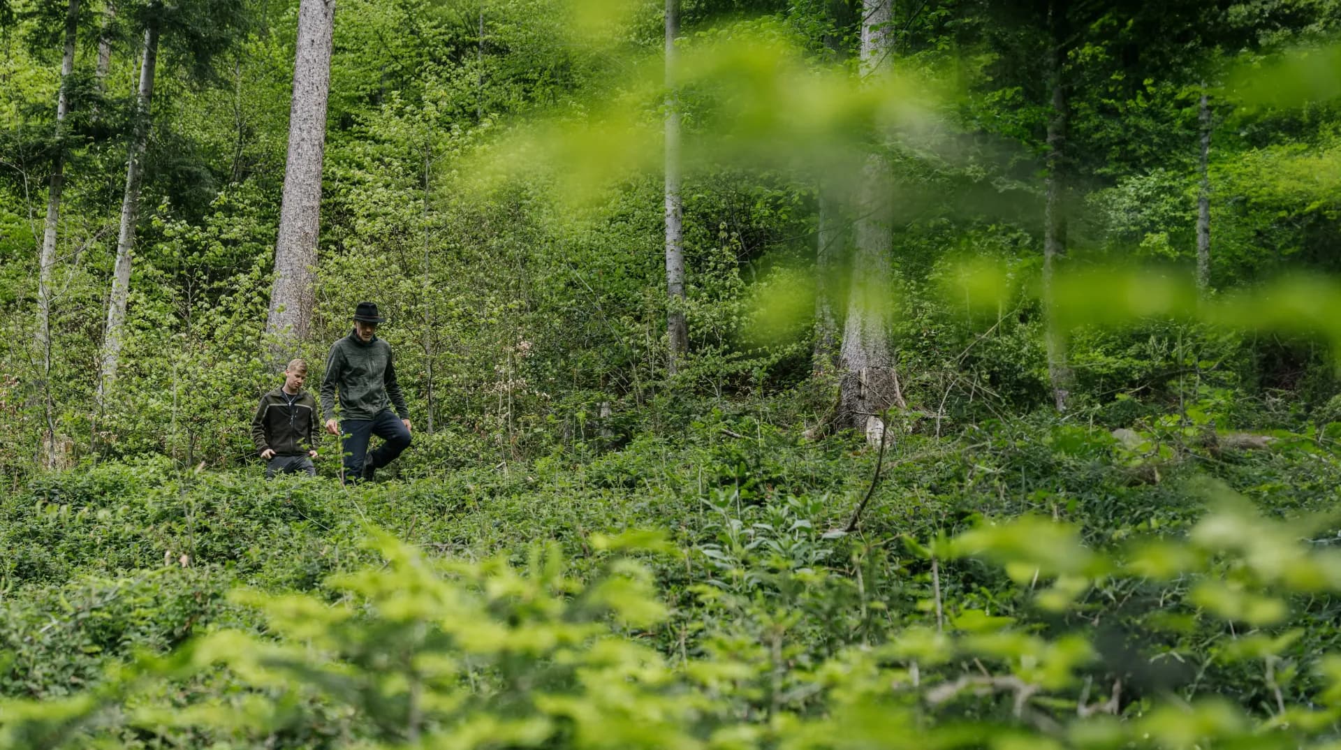
<instances>
[{"instance_id":1,"label":"thick pale trunk with flared base, partly behind blurred leaves, right of centre","mask_svg":"<svg viewBox=\"0 0 1341 750\"><path fill-rule=\"evenodd\" d=\"M892 0L870 0L861 19L861 75L872 78L892 67ZM868 441L884 437L882 415L900 404L898 380L889 346L890 267L893 232L890 165L880 153L866 157L862 168L852 259L848 319L843 325L839 366L839 427L865 431Z\"/></svg>"}]
</instances>

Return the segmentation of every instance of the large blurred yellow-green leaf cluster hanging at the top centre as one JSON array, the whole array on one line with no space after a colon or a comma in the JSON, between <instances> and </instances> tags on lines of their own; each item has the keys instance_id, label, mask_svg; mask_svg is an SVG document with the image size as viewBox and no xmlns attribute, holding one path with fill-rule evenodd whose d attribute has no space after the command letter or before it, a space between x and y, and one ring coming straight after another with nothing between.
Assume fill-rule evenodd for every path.
<instances>
[{"instance_id":1,"label":"large blurred yellow-green leaf cluster hanging at the top centre","mask_svg":"<svg viewBox=\"0 0 1341 750\"><path fill-rule=\"evenodd\" d=\"M817 68L801 40L772 20L742 21L679 42L676 106L685 121L688 170L787 169L854 180L853 154L877 141L925 141L947 85L911 75L860 82ZM569 201L595 199L621 180L662 166L666 101L660 59L633 58L599 101L538 115L475 154L477 188L543 172Z\"/></svg>"}]
</instances>

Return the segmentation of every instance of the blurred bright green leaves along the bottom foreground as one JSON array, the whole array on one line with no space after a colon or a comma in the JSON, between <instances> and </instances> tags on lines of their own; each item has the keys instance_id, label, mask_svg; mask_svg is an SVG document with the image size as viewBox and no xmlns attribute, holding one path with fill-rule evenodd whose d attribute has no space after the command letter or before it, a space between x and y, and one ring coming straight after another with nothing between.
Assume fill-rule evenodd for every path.
<instances>
[{"instance_id":1,"label":"blurred bright green leaves along the bottom foreground","mask_svg":"<svg viewBox=\"0 0 1341 750\"><path fill-rule=\"evenodd\" d=\"M931 564L933 576L936 565L1003 568L1015 593L1002 596L1051 613L1054 624L1041 629L983 609L943 620L935 589L924 619L806 669L779 660L778 643L658 651L672 609L649 564L699 554L661 533L593 535L606 551L594 553L603 572L591 582L573 577L555 546L534 546L518 569L434 559L374 534L370 546L385 562L333 576L333 600L237 590L235 604L259 612L264 628L212 629L72 698L4 700L0 747L110 747L125 737L209 747L276 738L461 749L1334 746L1326 742L1341 720L1341 653L1281 668L1298 636L1283 627L1297 600L1341 592L1341 550L1307 541L1334 519L1267 519L1220 486L1203 494L1210 510L1185 539L1133 539L1113 553L1033 515L984 519L929 545L909 541L912 565ZM815 534L806 529L789 534ZM711 559L751 569L723 570L730 580L759 581L778 565L770 554L743 550L725 562L719 550ZM829 576L798 573L817 590ZM707 586L703 596L724 590ZM1124 694L1121 669L1130 664L1104 663L1090 614L1114 592L1136 590L1160 602L1148 619L1155 631L1230 628L1235 637L1216 659L1255 664L1278 704L1252 712L1215 695ZM760 707L783 672L790 690ZM1279 698L1291 680L1311 686L1309 704Z\"/></svg>"}]
</instances>

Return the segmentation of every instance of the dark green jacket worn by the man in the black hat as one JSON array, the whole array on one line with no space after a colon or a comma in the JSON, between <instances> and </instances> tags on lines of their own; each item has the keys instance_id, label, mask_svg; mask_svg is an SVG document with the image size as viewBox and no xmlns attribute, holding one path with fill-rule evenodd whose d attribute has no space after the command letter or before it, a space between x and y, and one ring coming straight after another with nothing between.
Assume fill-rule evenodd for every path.
<instances>
[{"instance_id":1,"label":"dark green jacket worn by the man in the black hat","mask_svg":"<svg viewBox=\"0 0 1341 750\"><path fill-rule=\"evenodd\" d=\"M401 419L410 419L396 380L392 345L381 338L363 343L358 334L337 341L326 358L322 378L322 413L335 419L335 389L339 389L341 419L373 419L392 405Z\"/></svg>"}]
</instances>

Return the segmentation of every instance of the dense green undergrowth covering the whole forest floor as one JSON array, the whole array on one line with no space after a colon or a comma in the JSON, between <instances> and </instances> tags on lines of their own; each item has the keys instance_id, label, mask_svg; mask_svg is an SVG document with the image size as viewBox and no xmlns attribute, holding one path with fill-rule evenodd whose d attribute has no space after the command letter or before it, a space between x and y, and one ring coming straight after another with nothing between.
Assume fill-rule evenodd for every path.
<instances>
[{"instance_id":1,"label":"dense green undergrowth covering the whole forest floor","mask_svg":"<svg viewBox=\"0 0 1341 750\"><path fill-rule=\"evenodd\" d=\"M1333 428L1207 425L915 421L878 479L878 451L720 411L359 487L43 475L0 500L0 745L1333 737Z\"/></svg>"}]
</instances>

